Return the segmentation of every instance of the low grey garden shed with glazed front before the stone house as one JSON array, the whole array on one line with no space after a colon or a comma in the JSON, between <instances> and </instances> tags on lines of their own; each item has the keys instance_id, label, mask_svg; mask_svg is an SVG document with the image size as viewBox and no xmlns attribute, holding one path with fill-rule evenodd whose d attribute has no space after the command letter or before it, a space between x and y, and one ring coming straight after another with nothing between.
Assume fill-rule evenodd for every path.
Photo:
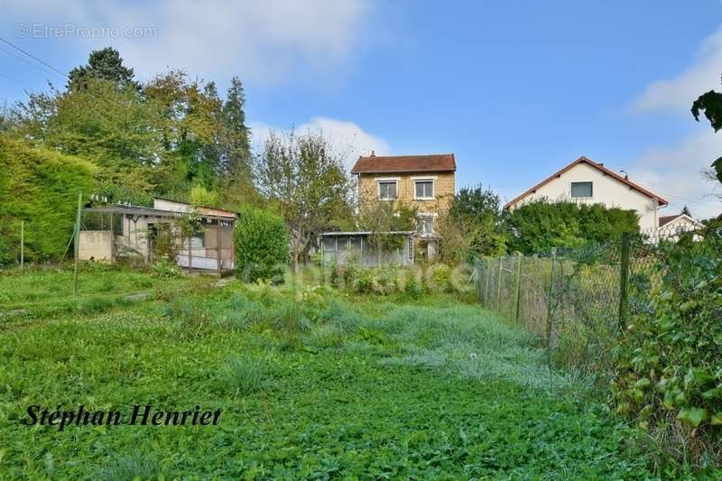
<instances>
[{"instance_id":1,"label":"low grey garden shed with glazed front before the stone house","mask_svg":"<svg viewBox=\"0 0 722 481\"><path fill-rule=\"evenodd\" d=\"M320 235L321 263L378 265L413 264L413 231L394 231L384 236L381 253L376 249L374 232L325 232Z\"/></svg>"}]
</instances>

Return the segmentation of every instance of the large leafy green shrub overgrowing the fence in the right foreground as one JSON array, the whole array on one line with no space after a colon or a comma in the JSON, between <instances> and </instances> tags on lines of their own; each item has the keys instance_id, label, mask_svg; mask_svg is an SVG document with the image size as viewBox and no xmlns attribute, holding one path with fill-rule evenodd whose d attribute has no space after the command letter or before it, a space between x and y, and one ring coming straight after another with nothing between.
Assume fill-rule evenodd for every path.
<instances>
[{"instance_id":1,"label":"large leafy green shrub overgrowing the fence in the right foreground","mask_svg":"<svg viewBox=\"0 0 722 481\"><path fill-rule=\"evenodd\" d=\"M630 415L674 449L722 457L722 241L683 236L662 245L662 287L633 291L641 309L629 319L612 385L617 412ZM634 278L633 278L634 279ZM676 422L670 422L676 419ZM680 439L680 436L682 437Z\"/></svg>"}]
</instances>

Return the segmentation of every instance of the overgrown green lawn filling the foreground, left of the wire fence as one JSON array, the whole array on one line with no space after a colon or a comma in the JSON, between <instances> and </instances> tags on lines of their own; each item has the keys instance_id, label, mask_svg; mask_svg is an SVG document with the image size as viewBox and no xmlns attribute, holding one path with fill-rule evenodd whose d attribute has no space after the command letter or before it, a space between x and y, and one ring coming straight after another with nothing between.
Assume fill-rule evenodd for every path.
<instances>
[{"instance_id":1,"label":"overgrown green lawn filling the foreground, left of the wire fence","mask_svg":"<svg viewBox=\"0 0 722 481\"><path fill-rule=\"evenodd\" d=\"M0 478L644 478L652 458L534 339L453 297L229 285L0 326ZM550 383L552 391L550 393ZM26 409L222 411L25 426Z\"/></svg>"}]
</instances>

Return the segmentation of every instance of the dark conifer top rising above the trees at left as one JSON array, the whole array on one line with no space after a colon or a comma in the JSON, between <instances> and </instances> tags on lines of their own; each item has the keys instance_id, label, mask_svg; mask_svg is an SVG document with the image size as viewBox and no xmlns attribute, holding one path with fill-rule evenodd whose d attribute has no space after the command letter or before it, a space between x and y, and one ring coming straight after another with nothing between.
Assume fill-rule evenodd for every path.
<instances>
[{"instance_id":1,"label":"dark conifer top rising above the trees at left","mask_svg":"<svg viewBox=\"0 0 722 481\"><path fill-rule=\"evenodd\" d=\"M134 80L134 71L123 65L120 52L113 47L106 47L99 51L91 51L88 63L70 70L68 89L86 88L88 79L103 79L120 87L140 88Z\"/></svg>"}]
</instances>

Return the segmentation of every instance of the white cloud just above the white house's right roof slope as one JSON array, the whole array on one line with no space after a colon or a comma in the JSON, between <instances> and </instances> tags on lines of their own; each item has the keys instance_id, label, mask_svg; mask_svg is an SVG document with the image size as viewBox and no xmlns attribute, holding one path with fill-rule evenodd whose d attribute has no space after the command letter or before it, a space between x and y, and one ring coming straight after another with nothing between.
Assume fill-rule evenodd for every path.
<instances>
[{"instance_id":1,"label":"white cloud just above the white house's right roof slope","mask_svg":"<svg viewBox=\"0 0 722 481\"><path fill-rule=\"evenodd\" d=\"M706 180L703 170L722 155L722 135L707 129L674 145L650 149L632 162L630 179L670 202L666 215L687 205L694 217L707 218L722 212L719 183Z\"/></svg>"}]
</instances>

